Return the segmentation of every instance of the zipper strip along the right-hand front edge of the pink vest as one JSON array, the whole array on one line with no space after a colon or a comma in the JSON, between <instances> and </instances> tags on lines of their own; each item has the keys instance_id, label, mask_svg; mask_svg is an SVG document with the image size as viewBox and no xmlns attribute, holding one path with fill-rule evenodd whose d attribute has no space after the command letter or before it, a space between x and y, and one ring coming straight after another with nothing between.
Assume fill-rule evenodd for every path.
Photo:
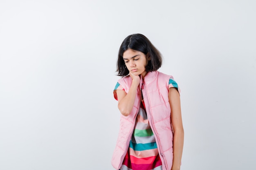
<instances>
[{"instance_id":1,"label":"zipper strip along the right-hand front edge of the pink vest","mask_svg":"<svg viewBox=\"0 0 256 170\"><path fill-rule=\"evenodd\" d=\"M143 86L143 85L144 85L144 83L142 83L142 86ZM145 89L146 98L147 98L147 105L148 105L148 106L146 106L146 104L145 104L145 106L148 107L147 112L148 112L148 114L150 115L149 124L150 124L150 126L151 126L151 128L152 128L152 130L153 130L153 133L154 133L154 135L155 135L155 137L157 138L157 141L158 141L158 143L159 143L159 137L157 136L157 133L156 133L156 130L155 130L155 126L153 125L153 118L152 118L151 109L150 109L151 107L150 107L150 103L149 103L149 101L148 101L149 97L148 97L147 87L146 87L145 85L144 85L144 89ZM145 95L143 95L143 96L144 96L144 102L145 102ZM164 155L163 155L163 153L162 153L162 148L161 148L161 146L160 146L160 143L159 143L159 147L157 147L157 148L158 148L158 150L160 151L160 155L161 155L161 157L162 157L163 160L164 160L165 169L167 170L166 161L165 161Z\"/></svg>"}]
</instances>

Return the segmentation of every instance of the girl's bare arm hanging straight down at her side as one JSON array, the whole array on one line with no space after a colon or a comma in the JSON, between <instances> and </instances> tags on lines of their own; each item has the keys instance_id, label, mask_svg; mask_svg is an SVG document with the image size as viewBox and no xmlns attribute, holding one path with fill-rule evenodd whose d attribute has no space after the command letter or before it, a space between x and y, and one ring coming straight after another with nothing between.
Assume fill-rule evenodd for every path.
<instances>
[{"instance_id":1,"label":"girl's bare arm hanging straight down at her side","mask_svg":"<svg viewBox=\"0 0 256 170\"><path fill-rule=\"evenodd\" d=\"M171 170L180 170L181 157L184 143L184 130L182 125L180 94L177 89L170 88L169 103L171 106L171 121L173 124L173 166Z\"/></svg>"}]
</instances>

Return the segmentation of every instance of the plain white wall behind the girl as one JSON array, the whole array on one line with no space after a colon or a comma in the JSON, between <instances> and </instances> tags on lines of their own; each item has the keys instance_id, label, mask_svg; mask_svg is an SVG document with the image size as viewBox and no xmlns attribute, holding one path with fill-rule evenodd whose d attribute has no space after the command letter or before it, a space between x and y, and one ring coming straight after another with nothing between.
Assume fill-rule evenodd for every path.
<instances>
[{"instance_id":1,"label":"plain white wall behind the girl","mask_svg":"<svg viewBox=\"0 0 256 170\"><path fill-rule=\"evenodd\" d=\"M117 53L159 49L182 93L182 170L256 168L254 0L0 0L0 170L113 170Z\"/></svg>"}]
</instances>

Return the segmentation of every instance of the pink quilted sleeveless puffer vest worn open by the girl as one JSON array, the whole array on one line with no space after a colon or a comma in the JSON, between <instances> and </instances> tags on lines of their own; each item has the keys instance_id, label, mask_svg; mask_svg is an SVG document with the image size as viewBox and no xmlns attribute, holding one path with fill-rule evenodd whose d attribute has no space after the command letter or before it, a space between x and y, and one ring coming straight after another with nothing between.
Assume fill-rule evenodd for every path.
<instances>
[{"instance_id":1,"label":"pink quilted sleeveless puffer vest worn open by the girl","mask_svg":"<svg viewBox=\"0 0 256 170\"><path fill-rule=\"evenodd\" d=\"M157 148L162 161L162 168L163 170L171 170L173 164L173 132L170 119L171 108L168 98L170 78L173 77L159 71L154 71L148 72L144 77L144 81L141 79L130 115L127 117L121 115L119 135L111 161L115 169L119 170L128 150L135 126L135 119L141 103L142 91L146 113L155 135ZM119 79L118 83L124 88L126 93L128 93L132 79L130 76L126 76ZM144 86L142 86L142 84L144 84Z\"/></svg>"}]
</instances>

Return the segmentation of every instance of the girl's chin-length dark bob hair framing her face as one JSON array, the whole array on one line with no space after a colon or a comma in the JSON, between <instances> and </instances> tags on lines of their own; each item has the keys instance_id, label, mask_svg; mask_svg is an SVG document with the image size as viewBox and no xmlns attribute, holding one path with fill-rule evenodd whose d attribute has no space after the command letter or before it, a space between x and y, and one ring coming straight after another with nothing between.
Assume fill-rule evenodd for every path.
<instances>
[{"instance_id":1,"label":"girl's chin-length dark bob hair framing her face","mask_svg":"<svg viewBox=\"0 0 256 170\"><path fill-rule=\"evenodd\" d=\"M157 71L158 68L162 65L162 55L161 53L153 46L153 44L142 34L132 34L124 39L122 42L117 59L117 72L118 76L126 76L129 74L128 68L126 68L123 55L124 52L128 49L135 51L140 51L145 55L149 54L150 60L145 66L147 72Z\"/></svg>"}]
</instances>

